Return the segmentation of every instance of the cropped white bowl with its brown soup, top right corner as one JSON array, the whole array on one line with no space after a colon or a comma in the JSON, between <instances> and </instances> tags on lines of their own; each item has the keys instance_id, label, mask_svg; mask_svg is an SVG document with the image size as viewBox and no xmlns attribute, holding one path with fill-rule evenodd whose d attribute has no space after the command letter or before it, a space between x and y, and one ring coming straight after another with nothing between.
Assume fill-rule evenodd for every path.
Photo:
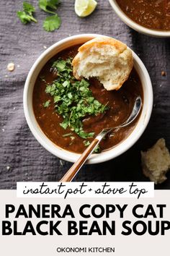
<instances>
[{"instance_id":1,"label":"cropped white bowl with its brown soup, top right corner","mask_svg":"<svg viewBox=\"0 0 170 256\"><path fill-rule=\"evenodd\" d=\"M169 15L165 17L165 12L161 8L164 7L163 1L158 3L156 10L154 9L156 1L153 7L149 1L147 5L143 4L143 1L138 4L138 0L134 3L131 0L109 0L109 3L118 17L139 33L157 38L168 38L170 37L170 5L167 9Z\"/></svg>"}]
</instances>

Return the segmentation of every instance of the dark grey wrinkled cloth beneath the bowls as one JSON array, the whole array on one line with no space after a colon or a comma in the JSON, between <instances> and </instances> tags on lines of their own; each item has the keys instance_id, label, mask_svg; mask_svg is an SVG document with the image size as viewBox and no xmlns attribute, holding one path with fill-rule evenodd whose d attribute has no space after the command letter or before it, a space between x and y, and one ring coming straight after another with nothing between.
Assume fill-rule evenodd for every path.
<instances>
[{"instance_id":1,"label":"dark grey wrinkled cloth beneath the bowls","mask_svg":"<svg viewBox=\"0 0 170 256\"><path fill-rule=\"evenodd\" d=\"M30 1L37 7L37 1ZM154 90L154 108L146 132L127 153L107 163L84 166L77 181L146 181L140 168L140 150L146 150L160 137L170 148L170 40L140 35L125 25L112 10L109 1L98 1L91 16L76 16L74 1L61 0L58 14L62 25L47 33L42 20L47 16L37 8L37 24L22 25L16 11L22 1L1 0L0 27L0 189L14 189L17 181L58 181L71 166L48 153L27 127L22 106L24 81L32 64L56 41L79 33L110 35L127 43L146 65ZM6 70L13 61L14 72ZM161 77L161 71L167 72ZM168 180L158 189L170 189Z\"/></svg>"}]
</instances>

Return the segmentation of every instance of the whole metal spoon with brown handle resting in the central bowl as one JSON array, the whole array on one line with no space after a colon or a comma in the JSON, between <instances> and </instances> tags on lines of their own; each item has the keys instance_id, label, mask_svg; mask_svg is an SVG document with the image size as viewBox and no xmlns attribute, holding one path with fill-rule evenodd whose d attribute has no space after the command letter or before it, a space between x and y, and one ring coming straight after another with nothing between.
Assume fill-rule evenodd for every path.
<instances>
[{"instance_id":1,"label":"whole metal spoon with brown handle resting in the central bowl","mask_svg":"<svg viewBox=\"0 0 170 256\"><path fill-rule=\"evenodd\" d=\"M82 155L80 156L78 161L76 161L76 163L74 163L73 166L71 166L71 168L66 172L66 174L63 176L63 178L60 180L60 182L71 182L72 179L74 178L74 176L76 176L76 174L78 173L81 166L84 165L87 158L89 158L91 153L94 151L94 148L96 148L96 146L104 138L104 136L106 136L109 132L112 132L112 130L115 130L115 132L116 132L117 129L120 129L122 127L127 127L129 124L131 124L135 120L135 118L138 116L141 106L142 106L142 100L141 100L140 96L138 96L135 99L133 111L130 114L130 116L128 117L128 119L124 123L120 124L117 127L102 129L102 132L100 132L99 135L97 135L97 137L95 137L95 139L91 142L89 147L86 148L86 150L84 151L84 153L82 153Z\"/></svg>"}]
</instances>

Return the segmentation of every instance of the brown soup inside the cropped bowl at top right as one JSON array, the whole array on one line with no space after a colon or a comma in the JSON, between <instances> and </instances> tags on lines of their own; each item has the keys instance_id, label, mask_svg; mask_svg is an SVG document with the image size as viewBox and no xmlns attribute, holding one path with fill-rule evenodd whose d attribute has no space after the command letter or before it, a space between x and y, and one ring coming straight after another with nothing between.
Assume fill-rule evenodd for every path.
<instances>
[{"instance_id":1,"label":"brown soup inside the cropped bowl at top right","mask_svg":"<svg viewBox=\"0 0 170 256\"><path fill-rule=\"evenodd\" d=\"M116 0L134 22L151 30L170 31L170 0Z\"/></svg>"}]
</instances>

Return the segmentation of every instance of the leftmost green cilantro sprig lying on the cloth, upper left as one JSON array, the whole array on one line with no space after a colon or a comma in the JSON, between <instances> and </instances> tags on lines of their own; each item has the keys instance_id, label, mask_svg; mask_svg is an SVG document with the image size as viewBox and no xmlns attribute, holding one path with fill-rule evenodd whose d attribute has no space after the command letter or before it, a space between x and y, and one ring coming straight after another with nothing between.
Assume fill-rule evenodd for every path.
<instances>
[{"instance_id":1,"label":"leftmost green cilantro sprig lying on the cloth, upper left","mask_svg":"<svg viewBox=\"0 0 170 256\"><path fill-rule=\"evenodd\" d=\"M32 13L35 12L35 7L32 4L23 2L23 11L17 12L17 17L23 24L27 24L28 22L37 22L37 20L32 16Z\"/></svg>"}]
</instances>

